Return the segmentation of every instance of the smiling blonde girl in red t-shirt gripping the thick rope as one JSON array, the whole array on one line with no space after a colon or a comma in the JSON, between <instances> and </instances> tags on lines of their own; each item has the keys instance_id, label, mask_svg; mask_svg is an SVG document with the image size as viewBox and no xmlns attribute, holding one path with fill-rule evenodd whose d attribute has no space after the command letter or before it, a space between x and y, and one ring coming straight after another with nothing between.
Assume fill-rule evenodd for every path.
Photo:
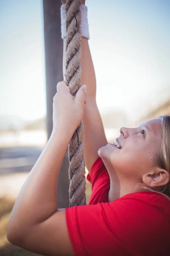
<instances>
[{"instance_id":1,"label":"smiling blonde girl in red t-shirt gripping the thick rope","mask_svg":"<svg viewBox=\"0 0 170 256\"><path fill-rule=\"evenodd\" d=\"M80 87L73 99L64 81L57 84L53 131L17 197L7 238L51 256L168 256L170 116L122 127L116 141L108 143L96 105L86 32L82 28L82 84L87 84L87 93ZM58 209L59 169L82 118L91 199L85 206Z\"/></svg>"}]
</instances>

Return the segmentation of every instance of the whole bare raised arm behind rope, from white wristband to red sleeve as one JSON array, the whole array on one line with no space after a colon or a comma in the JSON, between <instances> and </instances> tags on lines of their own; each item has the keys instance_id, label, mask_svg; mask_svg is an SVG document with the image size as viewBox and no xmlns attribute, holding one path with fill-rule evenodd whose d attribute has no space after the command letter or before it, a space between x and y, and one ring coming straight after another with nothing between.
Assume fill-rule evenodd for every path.
<instances>
[{"instance_id":1,"label":"whole bare raised arm behind rope, from white wristband to red sleeve","mask_svg":"<svg viewBox=\"0 0 170 256\"><path fill-rule=\"evenodd\" d=\"M63 71L65 74L65 43L64 40L64 58L63 58ZM93 163L98 156L98 149L107 144L105 137L105 131L102 124L102 119L99 110L96 105L96 76L94 71L94 65L91 58L91 52L88 45L88 39L82 37L82 76L81 84L87 86L87 103L84 106L84 157L85 166L88 171L91 171Z\"/></svg>"}]
</instances>

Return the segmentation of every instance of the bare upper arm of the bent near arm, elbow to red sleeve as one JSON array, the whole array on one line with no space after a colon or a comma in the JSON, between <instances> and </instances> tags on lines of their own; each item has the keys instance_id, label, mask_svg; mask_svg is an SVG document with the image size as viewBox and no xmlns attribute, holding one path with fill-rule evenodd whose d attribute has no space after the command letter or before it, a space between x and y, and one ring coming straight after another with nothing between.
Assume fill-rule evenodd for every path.
<instances>
[{"instance_id":1,"label":"bare upper arm of the bent near arm, elbow to red sleeve","mask_svg":"<svg viewBox=\"0 0 170 256\"><path fill-rule=\"evenodd\" d=\"M45 221L29 228L16 245L48 256L74 256L68 235L65 210L57 210Z\"/></svg>"}]
</instances>

